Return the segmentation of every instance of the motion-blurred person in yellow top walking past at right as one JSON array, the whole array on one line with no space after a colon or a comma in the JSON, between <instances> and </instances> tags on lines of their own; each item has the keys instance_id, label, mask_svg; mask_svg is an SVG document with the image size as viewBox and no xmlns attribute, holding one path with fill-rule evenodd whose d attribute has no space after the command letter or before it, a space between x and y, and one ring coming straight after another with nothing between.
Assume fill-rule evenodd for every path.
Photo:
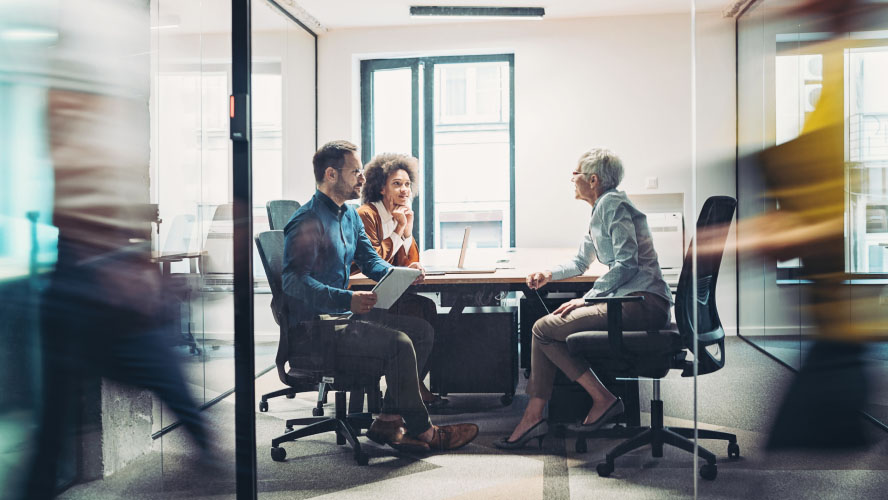
<instances>
[{"instance_id":1,"label":"motion-blurred person in yellow top walking past at right","mask_svg":"<svg viewBox=\"0 0 888 500\"><path fill-rule=\"evenodd\" d=\"M744 229L750 231L744 232L752 236L738 242L741 249L778 260L801 257L800 278L812 283L805 304L815 319L816 340L779 408L769 449L867 443L860 415L868 401L865 328L873 324L883 328L886 322L877 318L879 312L871 304L862 302L855 303L857 312L848 321L851 303L843 284L847 275L842 60L848 32L884 20L884 7L862 0L808 0L787 11L791 16L810 16L818 30L831 36L816 48L823 54L823 90L801 135L760 156L766 196L780 209L745 221Z\"/></svg>"}]
</instances>

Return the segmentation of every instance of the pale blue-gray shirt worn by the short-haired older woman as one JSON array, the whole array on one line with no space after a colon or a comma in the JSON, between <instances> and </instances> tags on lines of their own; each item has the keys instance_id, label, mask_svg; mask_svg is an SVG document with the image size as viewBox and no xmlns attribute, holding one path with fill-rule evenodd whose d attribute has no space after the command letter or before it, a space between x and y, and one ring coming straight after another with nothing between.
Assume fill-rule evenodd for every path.
<instances>
[{"instance_id":1,"label":"pale blue-gray shirt worn by the short-haired older woman","mask_svg":"<svg viewBox=\"0 0 888 500\"><path fill-rule=\"evenodd\" d=\"M598 258L608 271L595 281L593 295L650 292L674 303L663 279L647 216L626 193L611 189L592 206L592 220L577 256L552 269L552 280L579 276Z\"/></svg>"}]
</instances>

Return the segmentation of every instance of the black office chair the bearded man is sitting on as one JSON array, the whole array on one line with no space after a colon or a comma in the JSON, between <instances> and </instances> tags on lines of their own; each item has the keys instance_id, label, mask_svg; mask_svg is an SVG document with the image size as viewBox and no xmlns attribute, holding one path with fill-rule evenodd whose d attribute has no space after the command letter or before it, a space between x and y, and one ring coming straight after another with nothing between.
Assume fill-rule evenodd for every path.
<instances>
[{"instance_id":1,"label":"black office chair the bearded man is sitting on","mask_svg":"<svg viewBox=\"0 0 888 500\"><path fill-rule=\"evenodd\" d=\"M331 341L336 331L344 327L348 321L315 321L290 328L287 321L286 301L283 299L283 256L284 232L264 231L256 237L259 258L265 267L271 293L280 304L277 313L280 325L280 341L278 343L275 366L281 382L287 384L295 392L307 392L318 389L318 405L322 404L324 386L332 386L336 390L334 399L335 414L332 417L317 416L310 418L289 419L286 422L287 432L271 441L271 458L281 462L287 457L286 450L280 445L299 438L313 436L323 432L336 432L336 444L348 441L354 450L355 461L359 465L367 465L367 454L361 450L358 442L359 431L367 429L373 422L372 413L379 411L374 408L374 399L370 400L368 412L363 413L363 394L378 393L379 376L367 377L339 373L335 370L335 345ZM289 367L287 366L289 365ZM352 391L349 412L346 413L345 391ZM374 392L375 391L375 392ZM282 393L282 391L278 391ZM360 408L357 407L355 395L360 394ZM278 394L280 395L280 394ZM265 396L263 396L263 402ZM376 399L378 400L378 398ZM267 411L267 402L266 410ZM315 408L317 410L317 408ZM294 429L294 426L305 426Z\"/></svg>"}]
</instances>

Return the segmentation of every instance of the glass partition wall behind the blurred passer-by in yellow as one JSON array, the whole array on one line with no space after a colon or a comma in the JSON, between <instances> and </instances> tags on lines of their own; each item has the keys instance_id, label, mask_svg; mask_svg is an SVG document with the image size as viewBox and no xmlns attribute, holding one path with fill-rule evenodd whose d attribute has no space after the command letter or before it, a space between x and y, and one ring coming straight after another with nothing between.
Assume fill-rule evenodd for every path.
<instances>
[{"instance_id":1,"label":"glass partition wall behind the blurred passer-by in yellow","mask_svg":"<svg viewBox=\"0 0 888 500\"><path fill-rule=\"evenodd\" d=\"M778 16L779 2L755 3L737 21L738 198L740 220L779 209L765 196L756 154L798 137L821 94L824 74L844 75L844 270L837 309L848 334L863 332L873 385L867 413L888 422L884 329L888 262L888 38L884 15L845 34L840 56L823 50L822 19ZM879 21L881 19L881 21ZM880 24L881 23L881 24ZM738 239L743 234L740 225ZM741 253L738 264L740 334L790 368L798 369L815 335L801 279L804 262ZM840 332L845 333L845 332Z\"/></svg>"}]
</instances>

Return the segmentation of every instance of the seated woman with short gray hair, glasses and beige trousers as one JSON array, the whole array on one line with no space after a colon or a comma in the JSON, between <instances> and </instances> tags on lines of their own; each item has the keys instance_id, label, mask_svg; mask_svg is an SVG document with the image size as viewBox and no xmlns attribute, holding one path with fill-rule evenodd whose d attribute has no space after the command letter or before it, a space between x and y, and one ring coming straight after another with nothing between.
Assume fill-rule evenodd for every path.
<instances>
[{"instance_id":1,"label":"seated woman with short gray hair, glasses and beige trousers","mask_svg":"<svg viewBox=\"0 0 888 500\"><path fill-rule=\"evenodd\" d=\"M575 197L592 205L589 231L576 257L551 270L531 273L527 276L528 288L536 290L550 281L579 276L597 258L608 271L595 281L591 295L644 297L643 301L623 304L626 330L651 331L667 326L672 293L660 271L647 217L626 193L616 189L623 180L623 163L607 149L590 149L580 156L571 180ZM526 390L530 401L512 434L494 443L498 448L521 448L531 439L538 439L542 446L548 432L543 411L552 396L556 369L592 396L592 409L582 423L584 429L598 429L623 413L622 400L607 390L585 359L567 350L567 337L587 330L607 330L605 304L586 305L583 298L573 299L533 325Z\"/></svg>"}]
</instances>

